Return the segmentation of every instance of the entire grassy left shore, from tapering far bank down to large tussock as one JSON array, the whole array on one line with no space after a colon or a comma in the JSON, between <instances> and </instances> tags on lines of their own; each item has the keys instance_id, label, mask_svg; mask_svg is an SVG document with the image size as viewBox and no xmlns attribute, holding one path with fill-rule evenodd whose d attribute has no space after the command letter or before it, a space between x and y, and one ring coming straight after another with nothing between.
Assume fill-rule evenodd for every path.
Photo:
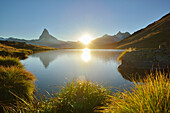
<instances>
[{"instance_id":1,"label":"entire grassy left shore, from tapering far bank down to large tussock","mask_svg":"<svg viewBox=\"0 0 170 113\"><path fill-rule=\"evenodd\" d=\"M36 78L24 69L20 59L27 58L27 55L33 52L55 49L21 42L0 41L0 105L15 105L18 99L16 96L26 101L33 100Z\"/></svg>"}]
</instances>

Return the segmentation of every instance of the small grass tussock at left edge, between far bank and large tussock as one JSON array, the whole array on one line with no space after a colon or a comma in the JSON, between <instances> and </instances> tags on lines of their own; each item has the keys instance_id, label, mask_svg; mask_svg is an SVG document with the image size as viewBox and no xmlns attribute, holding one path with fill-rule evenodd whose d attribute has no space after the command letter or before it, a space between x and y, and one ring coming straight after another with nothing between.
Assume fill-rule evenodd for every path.
<instances>
[{"instance_id":1,"label":"small grass tussock at left edge, between far bank and large tussock","mask_svg":"<svg viewBox=\"0 0 170 113\"><path fill-rule=\"evenodd\" d=\"M21 64L18 58L1 57L1 56L0 56L0 66L4 66L4 67L16 66L20 68L23 67L23 65Z\"/></svg>"}]
</instances>

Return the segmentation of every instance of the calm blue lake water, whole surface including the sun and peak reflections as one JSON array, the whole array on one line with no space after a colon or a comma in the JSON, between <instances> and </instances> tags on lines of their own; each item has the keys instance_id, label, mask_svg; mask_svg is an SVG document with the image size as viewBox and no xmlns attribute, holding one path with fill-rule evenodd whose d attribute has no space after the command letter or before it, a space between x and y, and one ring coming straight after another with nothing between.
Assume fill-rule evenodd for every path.
<instances>
[{"instance_id":1,"label":"calm blue lake water, whole surface including the sun and peak reflections","mask_svg":"<svg viewBox=\"0 0 170 113\"><path fill-rule=\"evenodd\" d=\"M63 49L30 55L22 64L36 78L38 89L51 92L73 78L92 80L112 91L128 88L132 83L117 70L117 57L122 50L114 49Z\"/></svg>"}]
</instances>

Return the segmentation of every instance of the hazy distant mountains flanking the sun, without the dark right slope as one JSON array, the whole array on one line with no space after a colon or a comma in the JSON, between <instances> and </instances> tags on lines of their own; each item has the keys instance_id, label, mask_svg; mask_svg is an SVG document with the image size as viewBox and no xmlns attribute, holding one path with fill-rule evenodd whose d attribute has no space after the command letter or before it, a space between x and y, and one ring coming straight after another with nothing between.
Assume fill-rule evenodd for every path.
<instances>
[{"instance_id":1,"label":"hazy distant mountains flanking the sun, without the dark right slope","mask_svg":"<svg viewBox=\"0 0 170 113\"><path fill-rule=\"evenodd\" d=\"M118 42L126 37L130 36L130 33L117 33L116 35L110 36L110 35L104 35L103 37L99 37L92 41L94 45L100 46L100 45L106 45L113 42ZM39 39L36 40L25 40L25 39L17 39L17 38L2 38L0 37L0 40L4 41L14 41L14 42L25 42L27 44L33 44L33 45L41 45L41 46L49 46L49 47L56 47L56 48L84 48L84 45L80 43L79 41L73 42L73 41L62 41L58 40L54 36L50 35L47 29L44 29L42 34L40 35Z\"/></svg>"}]
</instances>

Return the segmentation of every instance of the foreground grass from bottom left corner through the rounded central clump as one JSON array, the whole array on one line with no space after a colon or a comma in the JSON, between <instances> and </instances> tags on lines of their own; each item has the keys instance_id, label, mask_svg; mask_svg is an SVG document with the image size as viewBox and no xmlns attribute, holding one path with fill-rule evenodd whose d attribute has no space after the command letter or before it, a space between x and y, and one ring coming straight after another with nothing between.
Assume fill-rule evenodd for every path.
<instances>
[{"instance_id":1,"label":"foreground grass from bottom left corner through the rounded central clump","mask_svg":"<svg viewBox=\"0 0 170 113\"><path fill-rule=\"evenodd\" d=\"M104 105L108 94L109 90L94 82L73 80L51 98L41 96L29 102L20 99L12 108L3 107L5 112L90 113Z\"/></svg>"}]
</instances>

